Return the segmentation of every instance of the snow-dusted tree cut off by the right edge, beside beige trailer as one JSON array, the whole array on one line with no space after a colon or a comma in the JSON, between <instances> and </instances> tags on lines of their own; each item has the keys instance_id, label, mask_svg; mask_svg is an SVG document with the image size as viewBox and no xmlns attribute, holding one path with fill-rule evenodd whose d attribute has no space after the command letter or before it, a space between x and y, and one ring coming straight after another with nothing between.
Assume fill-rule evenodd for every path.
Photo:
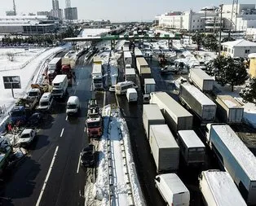
<instances>
[{"instance_id":1,"label":"snow-dusted tree cut off by the right edge, beside beige trailer","mask_svg":"<svg viewBox=\"0 0 256 206\"><path fill-rule=\"evenodd\" d=\"M251 79L249 84L241 90L240 95L245 101L256 103L256 78Z\"/></svg>"}]
</instances>

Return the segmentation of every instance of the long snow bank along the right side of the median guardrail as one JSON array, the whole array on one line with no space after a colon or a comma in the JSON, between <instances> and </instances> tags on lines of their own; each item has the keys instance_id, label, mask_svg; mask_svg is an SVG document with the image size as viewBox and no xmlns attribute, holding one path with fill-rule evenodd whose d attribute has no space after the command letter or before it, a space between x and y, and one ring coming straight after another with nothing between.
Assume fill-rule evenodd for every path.
<instances>
[{"instance_id":1,"label":"long snow bank along the right side of the median guardrail","mask_svg":"<svg viewBox=\"0 0 256 206\"><path fill-rule=\"evenodd\" d=\"M119 122L121 127L121 134L123 140L125 142L125 149L126 149L126 160L127 166L130 174L130 182L132 187L132 192L135 199L135 205L146 205L144 203L143 194L139 185L138 176L135 169L135 163L132 156L131 146L130 146L130 136L129 130L126 125L126 121L123 118L118 117L117 122Z\"/></svg>"}]
</instances>

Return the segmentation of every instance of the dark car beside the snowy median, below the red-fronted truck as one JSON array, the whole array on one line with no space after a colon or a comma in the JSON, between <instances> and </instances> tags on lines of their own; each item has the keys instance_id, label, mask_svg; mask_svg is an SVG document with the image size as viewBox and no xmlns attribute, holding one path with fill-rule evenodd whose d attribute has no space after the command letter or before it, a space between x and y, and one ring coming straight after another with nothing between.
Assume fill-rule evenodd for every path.
<instances>
[{"instance_id":1,"label":"dark car beside the snowy median, below the red-fronted truck","mask_svg":"<svg viewBox=\"0 0 256 206\"><path fill-rule=\"evenodd\" d=\"M89 144L82 149L81 164L84 167L95 165L95 146L93 144Z\"/></svg>"}]
</instances>

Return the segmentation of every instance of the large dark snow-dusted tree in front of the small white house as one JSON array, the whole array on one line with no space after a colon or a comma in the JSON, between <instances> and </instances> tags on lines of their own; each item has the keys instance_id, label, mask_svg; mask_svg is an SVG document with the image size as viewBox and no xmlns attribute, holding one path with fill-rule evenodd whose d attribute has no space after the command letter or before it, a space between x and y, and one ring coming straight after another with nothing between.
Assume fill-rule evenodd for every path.
<instances>
[{"instance_id":1,"label":"large dark snow-dusted tree in front of the small white house","mask_svg":"<svg viewBox=\"0 0 256 206\"><path fill-rule=\"evenodd\" d=\"M234 61L231 57L220 56L210 61L207 65L207 73L215 77L221 85L242 85L249 78L245 65Z\"/></svg>"}]
</instances>

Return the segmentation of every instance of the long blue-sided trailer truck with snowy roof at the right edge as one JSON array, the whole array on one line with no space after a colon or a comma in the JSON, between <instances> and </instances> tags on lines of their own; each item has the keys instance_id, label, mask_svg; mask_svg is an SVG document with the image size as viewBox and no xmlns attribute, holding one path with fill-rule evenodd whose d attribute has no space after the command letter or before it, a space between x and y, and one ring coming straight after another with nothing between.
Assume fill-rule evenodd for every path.
<instances>
[{"instance_id":1,"label":"long blue-sided trailer truck with snowy roof at the right edge","mask_svg":"<svg viewBox=\"0 0 256 206\"><path fill-rule=\"evenodd\" d=\"M236 183L248 205L256 204L256 157L229 125L206 126L206 142Z\"/></svg>"}]
</instances>

